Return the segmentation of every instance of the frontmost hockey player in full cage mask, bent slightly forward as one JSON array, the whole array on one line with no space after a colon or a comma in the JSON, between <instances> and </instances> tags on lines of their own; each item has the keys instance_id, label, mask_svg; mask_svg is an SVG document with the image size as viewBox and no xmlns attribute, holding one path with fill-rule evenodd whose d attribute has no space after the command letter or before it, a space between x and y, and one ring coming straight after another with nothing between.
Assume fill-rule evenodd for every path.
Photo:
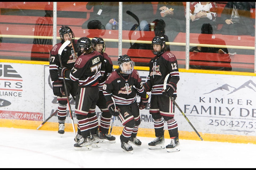
<instances>
[{"instance_id":1,"label":"frontmost hockey player in full cage mask, bent slightly forward","mask_svg":"<svg viewBox=\"0 0 256 170\"><path fill-rule=\"evenodd\" d=\"M118 116L124 125L120 136L121 148L124 152L132 154L133 147L129 143L141 146L141 141L136 137L141 123L139 109L147 107L149 96L143 88L138 71L133 69L130 57L119 56L117 62L119 68L107 78L103 86L103 94L110 114ZM139 106L136 102L137 93L141 96Z\"/></svg>"}]
</instances>

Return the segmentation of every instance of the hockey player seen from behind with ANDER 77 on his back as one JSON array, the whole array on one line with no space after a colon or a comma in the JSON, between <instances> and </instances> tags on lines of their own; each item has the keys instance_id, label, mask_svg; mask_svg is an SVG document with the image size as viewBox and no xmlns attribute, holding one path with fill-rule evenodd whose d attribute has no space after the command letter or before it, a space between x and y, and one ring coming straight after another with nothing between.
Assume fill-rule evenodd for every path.
<instances>
[{"instance_id":1,"label":"hockey player seen from behind with ANDER 77 on his back","mask_svg":"<svg viewBox=\"0 0 256 170\"><path fill-rule=\"evenodd\" d=\"M105 65L103 56L93 50L88 37L78 39L76 50L82 52L82 55L77 58L72 70L62 68L59 69L59 72L79 83L75 98L75 115L78 119L77 139L79 141L74 144L74 147L76 150L91 150L93 146L99 147L92 144L99 142L95 108L99 97L98 83L105 73Z\"/></svg>"}]
</instances>

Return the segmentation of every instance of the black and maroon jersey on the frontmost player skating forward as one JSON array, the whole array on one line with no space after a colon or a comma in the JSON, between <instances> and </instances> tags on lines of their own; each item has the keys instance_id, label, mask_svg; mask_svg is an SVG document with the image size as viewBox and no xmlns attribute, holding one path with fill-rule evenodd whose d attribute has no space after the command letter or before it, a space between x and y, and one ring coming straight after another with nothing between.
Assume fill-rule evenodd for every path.
<instances>
[{"instance_id":1,"label":"black and maroon jersey on the frontmost player skating forward","mask_svg":"<svg viewBox=\"0 0 256 170\"><path fill-rule=\"evenodd\" d=\"M139 96L146 98L146 90L143 88L141 77L137 70L133 70L125 79L120 75L120 68L112 72L103 86L103 94L107 101L112 101L113 96L115 103L128 105L136 101L137 93Z\"/></svg>"}]
</instances>

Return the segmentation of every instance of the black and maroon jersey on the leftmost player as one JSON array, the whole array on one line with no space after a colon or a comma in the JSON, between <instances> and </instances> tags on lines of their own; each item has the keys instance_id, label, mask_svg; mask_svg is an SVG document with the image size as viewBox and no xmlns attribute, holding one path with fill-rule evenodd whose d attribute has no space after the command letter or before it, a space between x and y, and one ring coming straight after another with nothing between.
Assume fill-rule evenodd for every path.
<instances>
[{"instance_id":1,"label":"black and maroon jersey on the leftmost player","mask_svg":"<svg viewBox=\"0 0 256 170\"><path fill-rule=\"evenodd\" d=\"M74 43L73 43L74 47L76 43L77 43L77 40L74 40ZM63 77L59 76L58 74L58 68L61 67L58 51L62 44L63 42L54 45L50 52L50 67L49 67L50 70L49 71L50 71L52 81L57 81L59 79L63 81ZM73 68L76 58L75 58L75 51L72 48L72 46L66 46L66 48L62 51L61 61L62 61L63 67L66 67L69 70ZM69 78L65 78L65 79L69 79Z\"/></svg>"}]
</instances>

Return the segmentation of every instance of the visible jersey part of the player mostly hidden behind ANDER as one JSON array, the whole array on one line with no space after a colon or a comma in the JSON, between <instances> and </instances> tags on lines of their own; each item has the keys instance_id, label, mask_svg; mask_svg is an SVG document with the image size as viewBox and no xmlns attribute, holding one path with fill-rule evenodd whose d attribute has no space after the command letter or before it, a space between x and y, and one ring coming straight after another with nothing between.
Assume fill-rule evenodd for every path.
<instances>
[{"instance_id":1,"label":"visible jersey part of the player mostly hidden behind ANDER","mask_svg":"<svg viewBox=\"0 0 256 170\"><path fill-rule=\"evenodd\" d=\"M112 60L109 58L107 53L102 53L104 57L104 63L105 63L105 74L103 75L102 79L99 80L99 91L102 91L103 85L107 79L107 77L114 71Z\"/></svg>"}]
</instances>

